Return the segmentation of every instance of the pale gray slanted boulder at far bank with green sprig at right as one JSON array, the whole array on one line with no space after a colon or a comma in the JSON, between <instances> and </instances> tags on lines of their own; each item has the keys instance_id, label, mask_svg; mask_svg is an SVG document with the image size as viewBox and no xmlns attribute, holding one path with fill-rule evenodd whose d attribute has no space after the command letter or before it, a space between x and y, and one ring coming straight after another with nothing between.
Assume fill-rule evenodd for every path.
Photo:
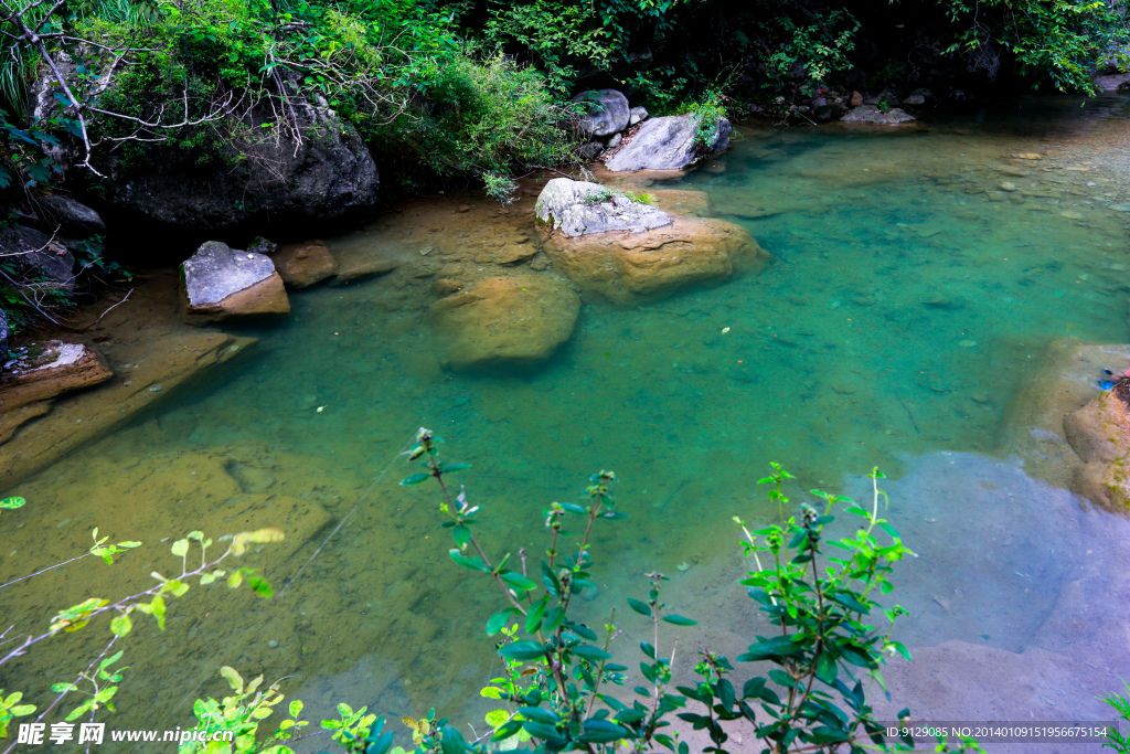
<instances>
[{"instance_id":1,"label":"pale gray slanted boulder at far bank with green sprig at right","mask_svg":"<svg viewBox=\"0 0 1130 754\"><path fill-rule=\"evenodd\" d=\"M678 171L730 146L730 121L719 119L709 146L698 142L698 122L692 114L652 118L626 146L605 163L614 172Z\"/></svg>"}]
</instances>

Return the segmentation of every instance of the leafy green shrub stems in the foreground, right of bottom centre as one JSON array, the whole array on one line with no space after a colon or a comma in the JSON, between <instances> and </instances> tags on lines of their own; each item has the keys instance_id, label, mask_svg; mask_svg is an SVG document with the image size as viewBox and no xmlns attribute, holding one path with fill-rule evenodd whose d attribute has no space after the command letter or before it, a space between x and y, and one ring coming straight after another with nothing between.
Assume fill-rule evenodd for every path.
<instances>
[{"instance_id":1,"label":"leafy green shrub stems in the foreground, right of bottom centre","mask_svg":"<svg viewBox=\"0 0 1130 754\"><path fill-rule=\"evenodd\" d=\"M640 673L646 685L627 694L616 691L625 685L629 670L612 650L633 629L618 625L615 610L602 626L593 627L573 617L572 609L573 598L592 586L593 527L627 518L610 494L616 475L593 475L583 502L547 506L542 517L549 543L544 556L534 562L520 549L514 563L511 553L490 557L472 534L483 506L471 503L466 491L453 494L445 479L467 465L440 460L437 443L431 431L419 431L408 456L414 461L423 459L425 471L401 484L436 480L443 497L440 509L447 518L443 526L451 529L455 544L451 558L481 573L503 597L505 607L487 621L486 631L503 634L497 651L505 674L494 678L484 695L506 707L488 717L492 730L475 740L467 740L443 720L429 725L426 733L417 728L417 752L480 753L487 751L489 738L495 744L505 742L507 748L527 743L524 751L610 754L662 747L686 754L687 743L669 729L672 717L705 730L713 743L706 751L716 754L728 751L728 727L737 720L753 723L764 751L780 754L831 753L844 747L909 751L913 745L909 738L887 740L866 699L864 683L883 685L881 667L888 658L910 659L906 648L892 639L895 622L906 612L897 605L884 608L877 599L893 590L889 577L895 564L913 555L897 530L879 518L884 493L878 470L870 475L870 510L842 495L814 491L819 510L806 503L799 517L756 531L739 520L747 555L757 565L741 583L765 615L772 635L756 635L733 662L709 648L701 650L694 685L673 685L681 655L677 640L661 645L660 624L693 627L696 621L670 612L661 601L668 577L645 574L646 598L629 598L627 606L649 621L646 638L640 642ZM782 487L793 477L779 465L773 470L762 482L773 484L770 497L780 505L783 519L789 499ZM827 527L836 520L833 511L841 508L858 519L854 534L829 540ZM577 525L567 527L574 517ZM579 534L572 545L571 528ZM836 555L827 555L826 547L834 547ZM731 681L734 662L756 664L755 674L766 667L768 671L738 690ZM909 714L904 710L902 717ZM941 742L937 751L981 749L963 739Z\"/></svg>"}]
</instances>

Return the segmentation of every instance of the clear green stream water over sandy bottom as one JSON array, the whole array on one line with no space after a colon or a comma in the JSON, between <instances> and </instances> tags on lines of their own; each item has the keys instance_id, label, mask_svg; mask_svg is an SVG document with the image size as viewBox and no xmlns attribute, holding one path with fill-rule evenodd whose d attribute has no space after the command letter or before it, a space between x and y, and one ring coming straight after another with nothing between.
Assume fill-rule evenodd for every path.
<instances>
[{"instance_id":1,"label":"clear green stream water over sandy bottom","mask_svg":"<svg viewBox=\"0 0 1130 754\"><path fill-rule=\"evenodd\" d=\"M672 574L666 601L707 624L679 630L684 671L694 651L732 657L762 630L736 584L746 564L730 519L774 517L753 484L765 465L859 497L857 475L878 465L893 477L888 518L920 558L894 593L916 660L892 661L893 701L876 691L877 707L923 720L1107 718L1096 697L1130 677L1130 527L992 456L1051 338L1130 336L1119 156L1130 130L1122 101L1033 102L928 131L745 132L678 188L707 192L775 263L635 310L588 302L533 374L442 371L429 294L408 279L293 296L293 317L251 332L257 355L220 383L172 396L7 493L29 503L0 517L3 580L81 552L95 526L146 547L113 569L86 561L9 588L6 625L45 626L62 606L147 586L175 567L160 540L194 528L287 530L284 546L249 556L281 591L353 511L270 603L194 588L166 632L139 625L107 721L188 725L192 700L220 695L218 668L232 665L286 676L312 716L341 700L393 718L435 704L481 733L485 708L464 701L497 669L481 631L497 600L450 563L433 491L395 484L412 470L397 453L425 424L473 463L462 482L486 505L495 553L542 549L541 506L615 469L632 518L598 531L600 589L581 612L602 623L645 590L645 571ZM445 226L454 242L501 217L480 197L451 199L464 200L472 211ZM409 209L336 243L418 237L418 222ZM631 659L644 626L625 613ZM5 687L68 679L104 641L102 627L53 641L12 664Z\"/></svg>"}]
</instances>

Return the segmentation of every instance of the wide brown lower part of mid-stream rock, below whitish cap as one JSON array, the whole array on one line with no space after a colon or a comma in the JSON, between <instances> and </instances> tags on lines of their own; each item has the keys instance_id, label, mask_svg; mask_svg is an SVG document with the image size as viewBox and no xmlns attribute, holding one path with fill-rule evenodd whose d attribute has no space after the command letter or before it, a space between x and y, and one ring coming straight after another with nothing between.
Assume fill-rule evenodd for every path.
<instances>
[{"instance_id":1,"label":"wide brown lower part of mid-stream rock, below whitish cap","mask_svg":"<svg viewBox=\"0 0 1130 754\"><path fill-rule=\"evenodd\" d=\"M731 275L736 267L759 270L768 254L749 232L720 219L676 217L645 233L598 233L568 239L542 226L554 266L584 291L618 304L661 298L678 288Z\"/></svg>"}]
</instances>

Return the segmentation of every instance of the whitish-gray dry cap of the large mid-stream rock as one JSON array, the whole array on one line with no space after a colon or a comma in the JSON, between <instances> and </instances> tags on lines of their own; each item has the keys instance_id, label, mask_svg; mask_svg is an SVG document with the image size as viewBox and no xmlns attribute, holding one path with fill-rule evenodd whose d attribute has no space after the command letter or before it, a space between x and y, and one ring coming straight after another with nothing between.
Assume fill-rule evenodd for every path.
<instances>
[{"instance_id":1,"label":"whitish-gray dry cap of the large mid-stream rock","mask_svg":"<svg viewBox=\"0 0 1130 754\"><path fill-rule=\"evenodd\" d=\"M599 183L555 177L533 207L538 219L571 239L593 233L643 233L671 224L671 217L650 205Z\"/></svg>"}]
</instances>

